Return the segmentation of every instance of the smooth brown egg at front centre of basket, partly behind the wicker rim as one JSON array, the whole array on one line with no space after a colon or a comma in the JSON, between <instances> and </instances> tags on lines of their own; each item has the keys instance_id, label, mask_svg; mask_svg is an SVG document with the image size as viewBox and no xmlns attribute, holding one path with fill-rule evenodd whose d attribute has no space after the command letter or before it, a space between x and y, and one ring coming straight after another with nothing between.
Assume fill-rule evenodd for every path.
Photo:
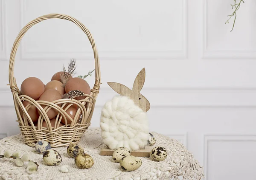
<instances>
[{"instance_id":1,"label":"smooth brown egg at front centre of basket, partly behind the wicker rim","mask_svg":"<svg viewBox=\"0 0 256 180\"><path fill-rule=\"evenodd\" d=\"M58 100L58 99L61 99L62 96L61 94L57 91L57 90L53 90L53 89L49 89L49 90L46 90L38 100L40 101L49 101L49 102L52 102L52 101L55 101L55 100ZM43 108L45 107L45 105L41 105ZM49 119L52 119L54 118L56 115L58 114L58 111L55 110L54 108L51 108L48 112L47 112L47 115L48 115L48 118Z\"/></svg>"}]
</instances>

